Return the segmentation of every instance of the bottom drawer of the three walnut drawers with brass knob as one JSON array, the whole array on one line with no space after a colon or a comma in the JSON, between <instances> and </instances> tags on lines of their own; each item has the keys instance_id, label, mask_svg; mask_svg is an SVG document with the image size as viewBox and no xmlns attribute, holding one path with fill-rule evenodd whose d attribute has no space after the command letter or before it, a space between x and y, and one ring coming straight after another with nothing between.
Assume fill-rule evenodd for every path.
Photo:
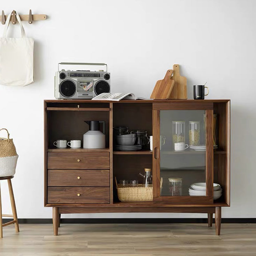
<instances>
[{"instance_id":1,"label":"bottom drawer of the three walnut drawers with brass knob","mask_svg":"<svg viewBox=\"0 0 256 256\"><path fill-rule=\"evenodd\" d=\"M48 203L110 203L109 187L48 187Z\"/></svg>"}]
</instances>

